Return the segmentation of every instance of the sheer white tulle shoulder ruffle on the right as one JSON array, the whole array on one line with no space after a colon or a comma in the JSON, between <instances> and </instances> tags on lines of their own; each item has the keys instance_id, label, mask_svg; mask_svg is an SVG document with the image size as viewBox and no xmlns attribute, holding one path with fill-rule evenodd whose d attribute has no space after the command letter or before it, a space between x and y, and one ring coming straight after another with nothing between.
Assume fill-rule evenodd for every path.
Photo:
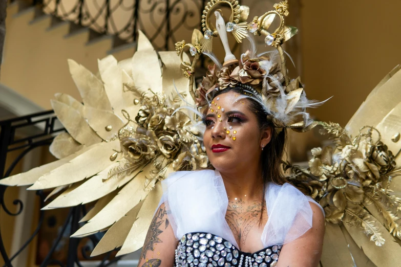
<instances>
[{"instance_id":1,"label":"sheer white tulle shoulder ruffle on the right","mask_svg":"<svg viewBox=\"0 0 401 267\"><path fill-rule=\"evenodd\" d=\"M263 246L291 242L312 227L313 211L309 203L315 202L294 186L270 183L265 197L268 220L262 234Z\"/></svg>"}]
</instances>

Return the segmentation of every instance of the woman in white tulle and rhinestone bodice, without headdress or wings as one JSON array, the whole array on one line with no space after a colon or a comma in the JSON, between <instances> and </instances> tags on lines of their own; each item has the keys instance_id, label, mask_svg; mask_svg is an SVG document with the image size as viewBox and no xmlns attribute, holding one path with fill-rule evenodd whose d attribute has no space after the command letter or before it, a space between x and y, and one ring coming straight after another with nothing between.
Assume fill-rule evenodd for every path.
<instances>
[{"instance_id":1,"label":"woman in white tulle and rhinestone bodice, without headdress or wings","mask_svg":"<svg viewBox=\"0 0 401 267\"><path fill-rule=\"evenodd\" d=\"M203 137L214 170L176 172L162 182L138 266L319 264L322 209L286 183L286 131L246 92L227 87L214 96Z\"/></svg>"}]
</instances>

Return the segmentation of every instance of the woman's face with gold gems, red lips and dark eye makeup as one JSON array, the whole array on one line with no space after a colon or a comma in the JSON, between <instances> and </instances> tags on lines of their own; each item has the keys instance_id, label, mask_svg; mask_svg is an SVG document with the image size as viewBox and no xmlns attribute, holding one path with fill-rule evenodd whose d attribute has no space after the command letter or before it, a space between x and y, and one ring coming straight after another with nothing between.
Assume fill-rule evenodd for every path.
<instances>
[{"instance_id":1,"label":"woman's face with gold gems, red lips and dark eye makeup","mask_svg":"<svg viewBox=\"0 0 401 267\"><path fill-rule=\"evenodd\" d=\"M206 114L203 142L210 163L220 172L258 165L262 145L270 140L270 130L267 138L266 133L262 135L249 100L237 100L239 96L229 91L215 97Z\"/></svg>"}]
</instances>

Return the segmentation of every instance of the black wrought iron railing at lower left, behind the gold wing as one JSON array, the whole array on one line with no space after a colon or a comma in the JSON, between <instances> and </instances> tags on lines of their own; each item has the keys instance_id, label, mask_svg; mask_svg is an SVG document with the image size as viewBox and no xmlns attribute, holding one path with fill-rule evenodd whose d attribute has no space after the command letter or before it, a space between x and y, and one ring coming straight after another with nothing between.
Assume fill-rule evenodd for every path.
<instances>
[{"instance_id":1,"label":"black wrought iron railing at lower left, behind the gold wing","mask_svg":"<svg viewBox=\"0 0 401 267\"><path fill-rule=\"evenodd\" d=\"M37 113L29 116L19 117L15 119L5 120L0 122L0 179L7 177L14 170L16 165L24 159L24 156L32 151L34 148L48 146L52 142L54 136L58 132L65 131L57 120L52 110L42 113ZM19 137L22 136L22 137ZM18 155L13 162L6 169L7 155L11 151L18 151ZM5 193L7 186L0 185L0 217L1 216L18 216L23 212L24 203L18 198L13 199L12 204L15 206L16 211L6 206ZM44 207L45 193L41 190L36 192L39 197L40 208ZM52 258L54 251L60 243L61 238L69 230L68 236L72 235L79 228L79 220L82 216L87 213L86 206L80 205L72 207L68 211L68 215L64 224L62 224L61 230L58 233L57 238L54 240L47 256L39 264L40 267L48 265L58 265L72 267L75 264L82 266L78 253L82 255L84 259L90 258L90 252L93 247L99 242L99 238L96 235L87 237L91 242L91 246L79 246L82 238L70 238L68 243L68 256L66 262L61 262L55 258ZM0 253L5 261L3 266L13 267L12 261L20 255L23 250L27 249L28 245L33 242L35 236L38 235L39 230L44 224L45 211L40 210L39 219L37 221L36 229L27 238L26 242L20 246L17 252L13 255L9 255L6 251L4 240L1 235L2 231L5 231L4 226L0 224ZM78 251L81 248L81 251ZM118 261L120 257L114 257L113 252L104 255L103 259L100 260L98 266L109 266L110 264ZM16 266L15 266L16 267Z\"/></svg>"}]
</instances>

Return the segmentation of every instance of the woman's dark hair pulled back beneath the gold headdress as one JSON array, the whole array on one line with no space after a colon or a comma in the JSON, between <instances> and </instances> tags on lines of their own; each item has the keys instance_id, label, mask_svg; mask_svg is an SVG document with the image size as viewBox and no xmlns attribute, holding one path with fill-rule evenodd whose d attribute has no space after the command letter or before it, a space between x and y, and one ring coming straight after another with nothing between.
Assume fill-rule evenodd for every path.
<instances>
[{"instance_id":1,"label":"woman's dark hair pulled back beneath the gold headdress","mask_svg":"<svg viewBox=\"0 0 401 267\"><path fill-rule=\"evenodd\" d=\"M234 91L244 95L243 88L241 87L227 87L215 94L214 97ZM267 183L273 182L278 185L283 185L287 181L283 174L281 163L286 145L286 129L283 128L279 133L276 131L275 125L268 119L268 115L261 104L252 98L246 98L250 110L256 115L259 123L259 128L265 130L271 127L271 139L262 151L261 165L262 165L262 179L263 179L263 192L266 191ZM265 194L263 193L262 203L265 201ZM262 205L264 207L264 205ZM263 210L262 210L263 211ZM262 212L263 213L263 212ZM261 218L262 218L261 213ZM260 222L262 220L260 219Z\"/></svg>"}]
</instances>

